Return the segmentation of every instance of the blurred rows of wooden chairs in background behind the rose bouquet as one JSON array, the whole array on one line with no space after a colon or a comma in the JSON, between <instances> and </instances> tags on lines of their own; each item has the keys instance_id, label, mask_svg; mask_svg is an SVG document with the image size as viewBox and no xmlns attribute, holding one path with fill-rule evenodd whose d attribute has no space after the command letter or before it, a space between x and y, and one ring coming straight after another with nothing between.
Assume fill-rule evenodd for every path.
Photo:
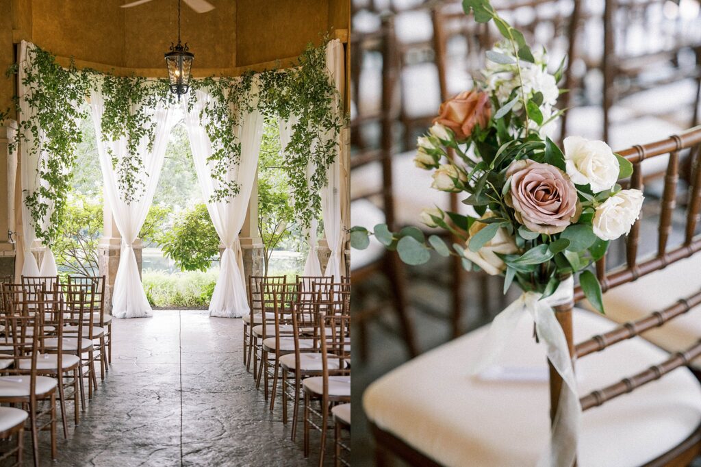
<instances>
[{"instance_id":1,"label":"blurred rows of wooden chairs in background behind the rose bouquet","mask_svg":"<svg viewBox=\"0 0 701 467\"><path fill-rule=\"evenodd\" d=\"M699 0L502 0L500 14L545 46L551 70L569 66L560 83L566 118L550 137L603 139L614 150L662 140L699 123ZM472 88L484 52L498 40L460 1L353 0L351 56L351 225L418 226L423 208L469 212L453 194L430 188L414 167L416 137L442 100ZM644 161L646 196L662 196L667 158ZM689 172L681 161L680 191ZM686 177L688 180L688 177ZM435 233L435 232L433 232ZM625 252L611 249L610 261ZM353 312L361 351L353 361L353 398L407 359L488 323L517 295L501 278L463 271L434 257L405 266L372 241L351 252ZM370 461L362 405L353 405L354 459ZM362 464L365 465L365 464Z\"/></svg>"}]
</instances>

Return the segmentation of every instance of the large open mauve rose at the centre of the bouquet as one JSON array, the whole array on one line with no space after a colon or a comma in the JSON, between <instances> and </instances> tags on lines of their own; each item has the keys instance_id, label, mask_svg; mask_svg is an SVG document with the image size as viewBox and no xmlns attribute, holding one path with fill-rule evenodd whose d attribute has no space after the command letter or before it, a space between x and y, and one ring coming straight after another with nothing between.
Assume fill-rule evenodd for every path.
<instances>
[{"instance_id":1,"label":"large open mauve rose at the centre of the bouquet","mask_svg":"<svg viewBox=\"0 0 701 467\"><path fill-rule=\"evenodd\" d=\"M577 189L565 172L530 159L515 161L506 171L511 177L507 203L516 219L539 234L557 234L577 222L582 212Z\"/></svg>"}]
</instances>

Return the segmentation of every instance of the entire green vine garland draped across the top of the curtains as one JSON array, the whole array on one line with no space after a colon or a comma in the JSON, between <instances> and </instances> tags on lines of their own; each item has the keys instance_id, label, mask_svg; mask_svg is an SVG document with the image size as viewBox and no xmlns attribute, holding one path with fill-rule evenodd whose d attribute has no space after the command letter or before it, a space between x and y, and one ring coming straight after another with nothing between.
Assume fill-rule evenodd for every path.
<instances>
[{"instance_id":1,"label":"entire green vine garland draped across the top of the curtains","mask_svg":"<svg viewBox=\"0 0 701 467\"><path fill-rule=\"evenodd\" d=\"M245 113L258 109L268 117L290 119L294 115L299 119L292 128L290 143L284 148L285 172L290 179L294 211L300 224L309 226L311 219L318 217L320 189L327 184L329 165L339 156L339 134L347 121L347 116L339 109L338 90L326 69L326 43L319 47L309 44L299 56L297 67L291 69L271 69L259 74L246 72L238 78L210 76L191 80L191 90L207 88L211 97L200 111L200 119L207 121L205 130L212 141L209 160L215 162L212 177L217 181L217 188L211 201L229 202L238 194L238 184L226 180L229 170L240 162L241 145L235 128ZM32 108L32 115L22 115L11 150L17 148L18 142L29 142L36 154L48 154L40 158L39 187L25 194L25 203L36 224L36 237L44 245L50 245L60 234L57 229L66 207L75 163L74 149L82 139L79 121L88 116L79 103L95 89L97 81L102 79L104 140L127 139L126 156L120 158L110 153L125 203L137 201L143 188L138 174L144 170L144 163L138 154L138 145L145 137L150 151L156 128L149 109L159 102L172 103L174 99L168 90L168 81L163 79L100 74L92 69L77 69L73 62L63 68L56 63L54 55L37 46L28 48L27 53L31 54L31 60L8 70L11 75L19 66L25 67L23 84L31 91L27 103ZM257 93L252 92L253 79L260 83ZM191 93L189 106L193 104L193 96ZM19 102L19 97L15 96L17 109ZM9 111L0 112L0 120L8 116ZM42 135L37 134L39 128ZM310 163L315 172L308 183L306 167ZM41 219L52 206L46 228L43 228Z\"/></svg>"}]
</instances>

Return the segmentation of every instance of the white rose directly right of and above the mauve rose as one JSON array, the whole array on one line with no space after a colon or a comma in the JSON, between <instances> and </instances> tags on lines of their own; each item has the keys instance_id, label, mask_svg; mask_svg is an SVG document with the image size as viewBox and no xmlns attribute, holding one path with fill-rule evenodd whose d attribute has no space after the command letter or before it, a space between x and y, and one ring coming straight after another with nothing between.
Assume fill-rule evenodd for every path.
<instances>
[{"instance_id":1,"label":"white rose directly right of and above the mauve rose","mask_svg":"<svg viewBox=\"0 0 701 467\"><path fill-rule=\"evenodd\" d=\"M572 182L589 184L594 193L608 190L618 180L618 158L603 141L590 141L569 136L562 142L565 168Z\"/></svg>"}]
</instances>

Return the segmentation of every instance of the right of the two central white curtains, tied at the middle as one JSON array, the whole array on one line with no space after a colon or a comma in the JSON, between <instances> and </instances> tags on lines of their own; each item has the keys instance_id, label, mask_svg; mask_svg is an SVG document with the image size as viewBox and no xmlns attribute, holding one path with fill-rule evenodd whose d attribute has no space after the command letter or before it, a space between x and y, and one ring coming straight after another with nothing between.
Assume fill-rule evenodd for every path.
<instances>
[{"instance_id":1,"label":"right of the two central white curtains, tied at the middle","mask_svg":"<svg viewBox=\"0 0 701 467\"><path fill-rule=\"evenodd\" d=\"M253 86L252 94L256 93L255 81ZM226 174L226 181L238 183L240 191L233 199L212 201L212 194L219 182L212 178L214 163L208 161L212 155L212 142L205 130L207 118L203 116L200 119L200 113L211 97L206 89L194 92L196 95L193 106L188 109L187 105L184 105L185 124L195 159L197 179L207 202L207 211L224 245L224 252L219 261L219 278L210 301L210 316L238 318L249 312L243 252L238 235L243 227L258 168L258 152L263 137L264 118L259 111L254 110L244 114L238 128L234 128L241 144L240 161Z\"/></svg>"}]
</instances>

